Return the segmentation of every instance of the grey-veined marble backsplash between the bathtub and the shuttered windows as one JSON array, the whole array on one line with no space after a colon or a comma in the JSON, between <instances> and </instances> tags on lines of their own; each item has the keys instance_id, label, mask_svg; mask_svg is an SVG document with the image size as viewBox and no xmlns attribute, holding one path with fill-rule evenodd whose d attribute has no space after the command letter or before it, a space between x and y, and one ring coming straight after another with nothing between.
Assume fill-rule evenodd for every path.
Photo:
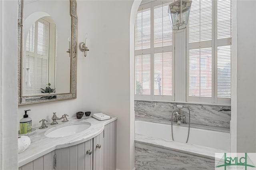
<instances>
[{"instance_id":1,"label":"grey-veined marble backsplash between the bathtub and the shuttered windows","mask_svg":"<svg viewBox=\"0 0 256 170\"><path fill-rule=\"evenodd\" d=\"M229 106L199 105L184 103L166 103L154 101L134 101L136 120L171 123L172 112L177 110L172 105L183 105L190 109L190 123L209 127L230 128L231 111L220 111L220 109L231 109ZM182 115L186 115L188 123L188 110L182 109Z\"/></svg>"}]
</instances>

